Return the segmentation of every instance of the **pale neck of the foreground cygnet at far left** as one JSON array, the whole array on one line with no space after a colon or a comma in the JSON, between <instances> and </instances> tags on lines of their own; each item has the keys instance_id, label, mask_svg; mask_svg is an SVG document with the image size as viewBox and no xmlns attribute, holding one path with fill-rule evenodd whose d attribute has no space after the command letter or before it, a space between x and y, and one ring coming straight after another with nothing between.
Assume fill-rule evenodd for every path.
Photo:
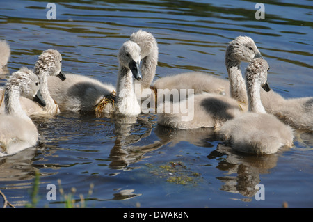
<instances>
[{"instance_id":1,"label":"pale neck of the foreground cygnet at far left","mask_svg":"<svg viewBox=\"0 0 313 222\"><path fill-rule=\"evenodd\" d=\"M29 116L22 109L22 105L19 102L20 89L18 86L10 86L6 88L6 93L4 95L5 111L7 114L12 116L19 116L27 120L31 120Z\"/></svg>"}]
</instances>

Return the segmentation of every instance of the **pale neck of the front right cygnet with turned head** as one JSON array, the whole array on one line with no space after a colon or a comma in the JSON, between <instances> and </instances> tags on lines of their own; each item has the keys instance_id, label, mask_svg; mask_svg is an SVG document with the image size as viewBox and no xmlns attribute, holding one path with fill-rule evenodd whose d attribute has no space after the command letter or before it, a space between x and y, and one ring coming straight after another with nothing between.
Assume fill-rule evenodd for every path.
<instances>
[{"instance_id":1,"label":"pale neck of the front right cygnet with turned head","mask_svg":"<svg viewBox=\"0 0 313 222\"><path fill-rule=\"evenodd\" d=\"M260 86L255 79L247 81L248 111L253 113L266 113L260 96Z\"/></svg>"}]
</instances>

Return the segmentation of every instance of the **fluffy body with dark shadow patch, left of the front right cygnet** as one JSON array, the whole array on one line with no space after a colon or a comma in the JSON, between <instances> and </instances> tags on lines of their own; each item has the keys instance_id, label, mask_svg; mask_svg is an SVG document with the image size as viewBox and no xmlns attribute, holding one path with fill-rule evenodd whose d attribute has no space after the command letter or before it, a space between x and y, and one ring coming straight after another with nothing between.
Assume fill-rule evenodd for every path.
<instances>
[{"instance_id":1,"label":"fluffy body with dark shadow patch, left of the front right cygnet","mask_svg":"<svg viewBox=\"0 0 313 222\"><path fill-rule=\"evenodd\" d=\"M186 109L182 108L185 106ZM223 122L239 116L241 112L240 104L233 98L204 93L190 95L179 102L166 101L159 104L157 122L175 129L218 128Z\"/></svg>"}]
</instances>

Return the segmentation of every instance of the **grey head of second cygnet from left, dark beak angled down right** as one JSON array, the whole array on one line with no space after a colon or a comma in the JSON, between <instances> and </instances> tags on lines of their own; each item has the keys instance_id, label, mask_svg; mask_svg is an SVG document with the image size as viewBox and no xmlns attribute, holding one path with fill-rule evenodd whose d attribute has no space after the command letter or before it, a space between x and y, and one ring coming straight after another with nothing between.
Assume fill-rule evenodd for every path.
<instances>
[{"instance_id":1,"label":"grey head of second cygnet from left, dark beak angled down right","mask_svg":"<svg viewBox=\"0 0 313 222\"><path fill-rule=\"evenodd\" d=\"M65 74L61 71L62 67L62 56L54 49L48 49L40 56L35 63L35 74L43 74L48 72L50 76L57 76L62 81L66 79Z\"/></svg>"}]
</instances>

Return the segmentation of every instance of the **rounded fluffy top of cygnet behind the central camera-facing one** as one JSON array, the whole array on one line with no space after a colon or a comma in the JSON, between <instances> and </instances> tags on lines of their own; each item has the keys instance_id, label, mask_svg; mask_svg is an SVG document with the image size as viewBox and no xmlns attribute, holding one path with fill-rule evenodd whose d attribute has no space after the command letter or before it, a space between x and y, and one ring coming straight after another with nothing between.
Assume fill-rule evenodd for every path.
<instances>
[{"instance_id":1,"label":"rounded fluffy top of cygnet behind the central camera-facing one","mask_svg":"<svg viewBox=\"0 0 313 222\"><path fill-rule=\"evenodd\" d=\"M139 47L141 47L141 58L145 58L154 51L159 50L157 40L154 38L152 33L148 33L147 31L136 31L136 33L131 34L129 39L136 42Z\"/></svg>"}]
</instances>

